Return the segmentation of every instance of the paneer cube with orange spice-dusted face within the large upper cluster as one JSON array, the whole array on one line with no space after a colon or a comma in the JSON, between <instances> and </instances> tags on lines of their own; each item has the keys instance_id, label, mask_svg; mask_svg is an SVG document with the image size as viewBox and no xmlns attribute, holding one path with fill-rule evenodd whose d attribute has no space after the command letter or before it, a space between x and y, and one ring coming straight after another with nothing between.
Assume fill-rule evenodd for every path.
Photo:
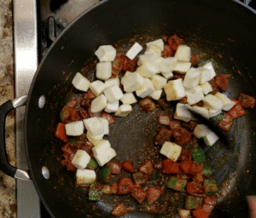
<instances>
[{"instance_id":1,"label":"paneer cube with orange spice-dusted face within the large upper cluster","mask_svg":"<svg viewBox=\"0 0 256 218\"><path fill-rule=\"evenodd\" d=\"M166 100L180 100L185 96L182 78L169 81L164 86L164 89L166 91Z\"/></svg>"}]
</instances>

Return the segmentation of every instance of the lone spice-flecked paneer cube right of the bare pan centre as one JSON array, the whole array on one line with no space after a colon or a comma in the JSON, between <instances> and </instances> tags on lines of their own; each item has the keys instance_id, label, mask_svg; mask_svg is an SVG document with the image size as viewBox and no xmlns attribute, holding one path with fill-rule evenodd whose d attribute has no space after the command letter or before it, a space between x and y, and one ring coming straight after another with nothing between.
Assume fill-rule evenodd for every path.
<instances>
[{"instance_id":1,"label":"lone spice-flecked paneer cube right of the bare pan centre","mask_svg":"<svg viewBox=\"0 0 256 218\"><path fill-rule=\"evenodd\" d=\"M164 145L161 147L160 153L165 155L167 158L176 162L177 158L180 156L182 147L178 146L174 142L166 141Z\"/></svg>"}]
</instances>

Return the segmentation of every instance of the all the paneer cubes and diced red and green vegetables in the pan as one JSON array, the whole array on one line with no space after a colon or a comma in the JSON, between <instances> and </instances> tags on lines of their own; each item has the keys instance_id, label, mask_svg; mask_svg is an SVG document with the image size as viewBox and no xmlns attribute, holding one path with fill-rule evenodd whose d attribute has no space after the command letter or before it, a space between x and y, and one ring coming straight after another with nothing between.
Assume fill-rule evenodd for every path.
<instances>
[{"instance_id":1,"label":"all the paneer cubes and diced red and green vegetables in the pan","mask_svg":"<svg viewBox=\"0 0 256 218\"><path fill-rule=\"evenodd\" d=\"M65 143L61 164L75 172L77 186L88 188L91 201L100 200L102 195L130 195L137 205L147 202L147 211L155 212L151 206L166 189L172 189L183 194L183 208L176 210L181 218L208 217L217 204L218 186L197 138L213 146L218 135L189 109L229 131L234 119L253 108L255 99L245 94L229 99L224 92L231 74L216 75L216 61L199 62L200 56L177 35L166 42L160 38L146 45L134 43L122 53L112 45L102 45L95 54L99 60L97 79L90 83L78 72L72 83L84 95L61 109L61 123L55 129L55 137ZM173 116L164 113L170 101L175 103ZM145 112L160 107L163 113L156 115L160 127L152 141L160 148L156 155L162 161L145 159L136 169L132 159L113 160L119 153L106 135L109 125L129 116L137 104ZM148 184L155 170L166 176L165 186ZM112 182L115 176L119 176L118 182ZM120 216L133 210L118 202L111 214Z\"/></svg>"}]
</instances>

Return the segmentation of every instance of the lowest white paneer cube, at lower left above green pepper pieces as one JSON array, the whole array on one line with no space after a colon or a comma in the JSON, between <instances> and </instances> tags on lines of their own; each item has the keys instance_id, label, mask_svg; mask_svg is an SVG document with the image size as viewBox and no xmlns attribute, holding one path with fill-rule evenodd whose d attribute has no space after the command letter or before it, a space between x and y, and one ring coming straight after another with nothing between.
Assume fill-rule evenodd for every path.
<instances>
[{"instance_id":1,"label":"lowest white paneer cube, at lower left above green pepper pieces","mask_svg":"<svg viewBox=\"0 0 256 218\"><path fill-rule=\"evenodd\" d=\"M77 185L90 185L96 181L96 172L92 169L77 169Z\"/></svg>"}]
</instances>

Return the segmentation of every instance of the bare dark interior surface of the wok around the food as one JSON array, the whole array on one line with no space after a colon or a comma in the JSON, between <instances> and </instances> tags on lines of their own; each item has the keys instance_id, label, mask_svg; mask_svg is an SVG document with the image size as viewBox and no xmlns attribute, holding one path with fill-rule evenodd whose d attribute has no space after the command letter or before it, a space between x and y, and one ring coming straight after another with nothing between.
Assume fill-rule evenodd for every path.
<instances>
[{"instance_id":1,"label":"bare dark interior surface of the wok around the food","mask_svg":"<svg viewBox=\"0 0 256 218\"><path fill-rule=\"evenodd\" d=\"M85 66L83 71L91 80L94 79L96 58L93 54L96 49L102 44L113 44L136 35L157 38L177 34L195 53L203 52L207 54L206 59L213 57L217 60L218 73L232 74L227 91L230 98L236 98L241 92L256 96L256 77L253 74L256 48L251 43L256 36L256 19L255 14L245 13L244 10L236 3L216 3L213 0L207 3L186 0L108 1L81 16L61 35L38 68L26 106L28 163L38 194L51 215L107 217L105 213L108 214L111 210L109 205L113 205L111 200L104 199L97 204L98 209L91 206L86 190L77 188L73 173L61 165L61 143L54 137L56 123L60 122L61 107L73 93L81 95L72 89L74 74ZM108 16L106 11L112 13ZM88 65L89 62L93 64ZM41 95L46 97L43 109L38 108ZM127 160L130 152L133 152L132 157L137 158L137 165L143 161L134 151L138 146L144 149L143 144L147 142L152 144L157 128L156 114L159 112L158 109L147 114L135 108L131 116L114 124L108 138L117 151L117 159L122 161L124 156ZM224 197L212 216L247 215L244 196L253 193L251 184L256 181L253 174L256 168L253 158L255 114L255 109L249 110L246 116L233 123L229 133L230 147L219 145L204 148L215 169L212 177L218 184L230 176L233 178L228 180ZM43 166L49 169L48 181L42 176ZM150 216L159 217L154 214ZM143 214L134 213L130 217L143 217Z\"/></svg>"}]
</instances>

